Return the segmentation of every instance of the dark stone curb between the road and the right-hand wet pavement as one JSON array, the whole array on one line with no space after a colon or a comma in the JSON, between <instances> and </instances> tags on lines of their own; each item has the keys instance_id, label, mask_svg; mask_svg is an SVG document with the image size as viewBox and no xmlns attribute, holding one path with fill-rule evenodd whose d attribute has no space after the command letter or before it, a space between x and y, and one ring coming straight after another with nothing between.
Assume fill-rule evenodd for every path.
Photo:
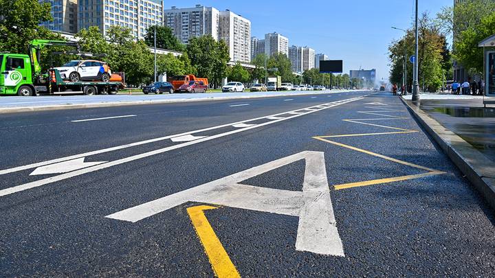
<instances>
[{"instance_id":1,"label":"dark stone curb between the road and the right-hand wet pavement","mask_svg":"<svg viewBox=\"0 0 495 278\"><path fill-rule=\"evenodd\" d=\"M454 132L442 126L438 121L408 100L400 97L408 110L415 116L419 124L433 137L443 152L461 170L488 204L495 209L495 163L484 154L474 149Z\"/></svg>"}]
</instances>

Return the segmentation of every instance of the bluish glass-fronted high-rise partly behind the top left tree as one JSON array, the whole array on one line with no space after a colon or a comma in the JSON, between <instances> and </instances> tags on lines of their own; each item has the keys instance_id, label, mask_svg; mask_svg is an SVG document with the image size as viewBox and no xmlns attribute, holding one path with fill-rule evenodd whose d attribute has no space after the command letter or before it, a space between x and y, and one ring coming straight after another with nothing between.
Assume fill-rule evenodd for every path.
<instances>
[{"instance_id":1,"label":"bluish glass-fronted high-rise partly behind the top left tree","mask_svg":"<svg viewBox=\"0 0 495 278\"><path fill-rule=\"evenodd\" d=\"M42 26L52 31L67 32L75 34L77 28L77 0L39 0L40 3L52 5L53 21L45 21Z\"/></svg>"}]
</instances>

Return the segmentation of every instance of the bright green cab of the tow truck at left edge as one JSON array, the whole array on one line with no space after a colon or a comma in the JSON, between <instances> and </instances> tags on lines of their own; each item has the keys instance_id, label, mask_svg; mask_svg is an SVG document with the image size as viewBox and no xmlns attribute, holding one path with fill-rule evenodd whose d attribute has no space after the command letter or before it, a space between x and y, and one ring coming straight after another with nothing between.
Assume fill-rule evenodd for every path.
<instances>
[{"instance_id":1,"label":"bright green cab of the tow truck at left edge","mask_svg":"<svg viewBox=\"0 0 495 278\"><path fill-rule=\"evenodd\" d=\"M32 95L32 78L30 56L0 53L0 95Z\"/></svg>"}]
</instances>

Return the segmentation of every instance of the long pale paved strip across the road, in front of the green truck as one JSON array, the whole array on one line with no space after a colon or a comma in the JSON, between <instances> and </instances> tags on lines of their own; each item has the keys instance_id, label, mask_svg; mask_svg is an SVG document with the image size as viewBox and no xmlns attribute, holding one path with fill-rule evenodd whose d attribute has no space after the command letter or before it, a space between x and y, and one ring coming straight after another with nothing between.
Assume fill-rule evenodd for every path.
<instances>
[{"instance_id":1,"label":"long pale paved strip across the road, in front of the green truck","mask_svg":"<svg viewBox=\"0 0 495 278\"><path fill-rule=\"evenodd\" d=\"M333 91L283 91L259 93L181 93L173 95L49 95L39 97L0 97L0 114L28 111L46 111L68 108L94 108L141 104L164 104L173 102L199 102L208 100L239 100L256 97L283 97L297 95L320 95L343 93ZM356 91L353 91L356 92Z\"/></svg>"}]
</instances>

